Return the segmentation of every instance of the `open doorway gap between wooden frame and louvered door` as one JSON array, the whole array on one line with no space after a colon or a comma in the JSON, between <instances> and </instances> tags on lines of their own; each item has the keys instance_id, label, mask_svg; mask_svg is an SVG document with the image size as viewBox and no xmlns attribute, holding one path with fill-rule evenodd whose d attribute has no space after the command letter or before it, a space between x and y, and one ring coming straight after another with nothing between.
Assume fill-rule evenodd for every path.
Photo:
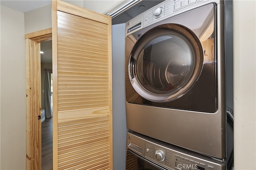
<instances>
[{"instance_id":1,"label":"open doorway gap between wooden frame and louvered door","mask_svg":"<svg viewBox=\"0 0 256 170\"><path fill-rule=\"evenodd\" d=\"M52 170L52 40L40 43L42 170Z\"/></svg>"}]
</instances>

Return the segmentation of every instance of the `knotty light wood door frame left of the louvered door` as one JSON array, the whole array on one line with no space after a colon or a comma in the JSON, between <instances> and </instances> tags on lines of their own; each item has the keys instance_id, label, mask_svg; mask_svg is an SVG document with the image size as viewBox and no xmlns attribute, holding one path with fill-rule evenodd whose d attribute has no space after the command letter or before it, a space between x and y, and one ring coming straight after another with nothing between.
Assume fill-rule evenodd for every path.
<instances>
[{"instance_id":1,"label":"knotty light wood door frame left of the louvered door","mask_svg":"<svg viewBox=\"0 0 256 170\"><path fill-rule=\"evenodd\" d=\"M25 35L26 41L26 169L41 170L40 42L52 39L52 28Z\"/></svg>"}]
</instances>

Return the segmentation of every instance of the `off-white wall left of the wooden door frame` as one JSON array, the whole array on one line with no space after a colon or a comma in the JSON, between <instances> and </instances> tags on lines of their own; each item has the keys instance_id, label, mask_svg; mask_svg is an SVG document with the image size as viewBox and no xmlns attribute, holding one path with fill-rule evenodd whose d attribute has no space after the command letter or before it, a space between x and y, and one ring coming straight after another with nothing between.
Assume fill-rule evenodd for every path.
<instances>
[{"instance_id":1,"label":"off-white wall left of the wooden door frame","mask_svg":"<svg viewBox=\"0 0 256 170\"><path fill-rule=\"evenodd\" d=\"M1 5L1 170L26 169L24 13Z\"/></svg>"}]
</instances>

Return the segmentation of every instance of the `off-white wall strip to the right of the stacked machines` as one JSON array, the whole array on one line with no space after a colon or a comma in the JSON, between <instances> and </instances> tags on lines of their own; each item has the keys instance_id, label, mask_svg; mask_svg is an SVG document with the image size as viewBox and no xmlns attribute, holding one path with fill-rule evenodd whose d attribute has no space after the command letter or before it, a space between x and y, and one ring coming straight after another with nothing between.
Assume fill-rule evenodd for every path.
<instances>
[{"instance_id":1,"label":"off-white wall strip to the right of the stacked machines","mask_svg":"<svg viewBox=\"0 0 256 170\"><path fill-rule=\"evenodd\" d=\"M256 169L256 1L234 0L234 168Z\"/></svg>"}]
</instances>

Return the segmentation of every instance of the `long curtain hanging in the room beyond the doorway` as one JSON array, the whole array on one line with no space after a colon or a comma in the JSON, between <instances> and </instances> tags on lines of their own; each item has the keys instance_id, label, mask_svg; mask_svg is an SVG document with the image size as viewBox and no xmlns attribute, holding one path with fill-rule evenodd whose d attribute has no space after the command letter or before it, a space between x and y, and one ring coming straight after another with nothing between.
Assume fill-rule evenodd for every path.
<instances>
[{"instance_id":1,"label":"long curtain hanging in the room beyond the doorway","mask_svg":"<svg viewBox=\"0 0 256 170\"><path fill-rule=\"evenodd\" d=\"M51 86L50 86L50 76L48 69L45 71L45 81L44 81L44 107L45 107L45 116L47 118L52 117L52 107L51 107Z\"/></svg>"}]
</instances>

